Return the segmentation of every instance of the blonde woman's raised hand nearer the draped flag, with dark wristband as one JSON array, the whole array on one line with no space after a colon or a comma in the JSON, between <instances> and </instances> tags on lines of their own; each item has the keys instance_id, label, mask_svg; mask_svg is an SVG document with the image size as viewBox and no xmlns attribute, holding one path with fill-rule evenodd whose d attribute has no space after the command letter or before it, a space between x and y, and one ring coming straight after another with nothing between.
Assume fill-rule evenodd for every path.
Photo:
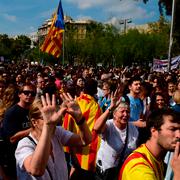
<instances>
[{"instance_id":1,"label":"blonde woman's raised hand nearer the draped flag, with dark wristband","mask_svg":"<svg viewBox=\"0 0 180 180\"><path fill-rule=\"evenodd\" d=\"M60 97L63 100L62 106L66 107L66 112L71 114L76 122L82 119L82 112L79 104L72 98L69 93L62 93Z\"/></svg>"}]
</instances>

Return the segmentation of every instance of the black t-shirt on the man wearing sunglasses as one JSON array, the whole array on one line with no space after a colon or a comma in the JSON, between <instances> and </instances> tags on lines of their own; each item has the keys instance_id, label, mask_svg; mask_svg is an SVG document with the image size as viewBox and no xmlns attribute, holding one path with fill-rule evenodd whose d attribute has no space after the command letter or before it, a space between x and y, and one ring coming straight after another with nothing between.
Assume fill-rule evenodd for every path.
<instances>
[{"instance_id":1,"label":"black t-shirt on the man wearing sunglasses","mask_svg":"<svg viewBox=\"0 0 180 180\"><path fill-rule=\"evenodd\" d=\"M9 139L17 132L30 128L28 115L29 110L22 108L18 104L9 108L4 115L2 126L3 137Z\"/></svg>"}]
</instances>

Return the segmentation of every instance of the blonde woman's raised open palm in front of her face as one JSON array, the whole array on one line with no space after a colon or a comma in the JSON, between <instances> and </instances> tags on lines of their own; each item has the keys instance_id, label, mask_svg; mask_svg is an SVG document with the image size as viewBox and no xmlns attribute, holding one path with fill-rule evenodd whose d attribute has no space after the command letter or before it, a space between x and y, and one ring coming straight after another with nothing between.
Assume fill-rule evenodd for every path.
<instances>
[{"instance_id":1,"label":"blonde woman's raised open palm in front of her face","mask_svg":"<svg viewBox=\"0 0 180 180\"><path fill-rule=\"evenodd\" d=\"M50 100L49 94L46 94L45 97L41 96L41 101L42 107L40 107L40 111L44 121L46 124L56 125L62 118L63 113L66 111L66 107L62 107L58 112L56 112L55 95L52 95L52 101Z\"/></svg>"}]
</instances>

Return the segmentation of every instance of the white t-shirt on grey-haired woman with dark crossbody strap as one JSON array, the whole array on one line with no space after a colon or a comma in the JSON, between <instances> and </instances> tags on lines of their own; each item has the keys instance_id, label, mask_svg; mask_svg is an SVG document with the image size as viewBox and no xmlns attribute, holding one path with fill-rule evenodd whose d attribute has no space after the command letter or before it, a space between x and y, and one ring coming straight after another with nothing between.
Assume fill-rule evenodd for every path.
<instances>
[{"instance_id":1,"label":"white t-shirt on grey-haired woman with dark crossbody strap","mask_svg":"<svg viewBox=\"0 0 180 180\"><path fill-rule=\"evenodd\" d=\"M118 129L113 119L108 120L106 125L107 128L105 132L101 134L102 140L96 159L96 164L100 166L103 171L118 165L119 156L123 150L126 139L126 129ZM137 128L132 123L128 124L128 128L128 143L124 153L124 159L136 149L138 139Z\"/></svg>"}]
</instances>

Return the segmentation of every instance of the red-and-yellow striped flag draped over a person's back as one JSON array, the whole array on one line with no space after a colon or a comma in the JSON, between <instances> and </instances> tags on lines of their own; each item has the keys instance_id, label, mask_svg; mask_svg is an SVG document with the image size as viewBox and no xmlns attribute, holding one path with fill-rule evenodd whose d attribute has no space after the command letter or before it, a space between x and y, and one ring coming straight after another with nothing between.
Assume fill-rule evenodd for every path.
<instances>
[{"instance_id":1,"label":"red-and-yellow striped flag draped over a person's back","mask_svg":"<svg viewBox=\"0 0 180 180\"><path fill-rule=\"evenodd\" d=\"M93 130L96 120L101 115L101 108L95 99L88 95L82 94L77 98L83 116L86 119L86 123L92 132L92 142L85 147L78 147L76 149L76 158L80 167L84 170L95 171L96 155L100 145L100 137ZM64 117L63 127L66 130L79 134L79 127L76 125L73 117L70 114L66 114ZM70 152L68 147L64 148L65 152Z\"/></svg>"}]
</instances>

